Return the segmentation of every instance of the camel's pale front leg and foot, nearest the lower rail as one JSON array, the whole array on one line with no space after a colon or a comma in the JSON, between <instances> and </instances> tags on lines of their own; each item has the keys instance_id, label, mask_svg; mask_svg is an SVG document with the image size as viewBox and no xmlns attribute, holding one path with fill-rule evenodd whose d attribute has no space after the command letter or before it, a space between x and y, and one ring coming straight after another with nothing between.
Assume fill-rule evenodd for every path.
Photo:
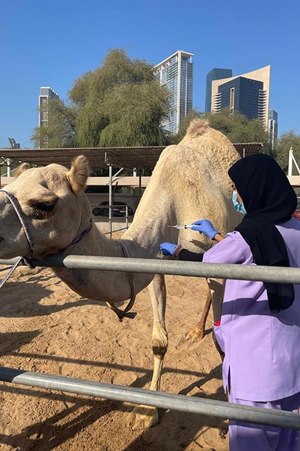
<instances>
[{"instance_id":1,"label":"camel's pale front leg and foot, nearest the lower rail","mask_svg":"<svg viewBox=\"0 0 300 451\"><path fill-rule=\"evenodd\" d=\"M154 369L150 390L159 391L163 359L168 349L168 333L165 329L165 277L156 274L149 285L153 309L152 350L154 354ZM137 406L130 414L132 430L146 429L159 422L159 412L156 407Z\"/></svg>"}]
</instances>

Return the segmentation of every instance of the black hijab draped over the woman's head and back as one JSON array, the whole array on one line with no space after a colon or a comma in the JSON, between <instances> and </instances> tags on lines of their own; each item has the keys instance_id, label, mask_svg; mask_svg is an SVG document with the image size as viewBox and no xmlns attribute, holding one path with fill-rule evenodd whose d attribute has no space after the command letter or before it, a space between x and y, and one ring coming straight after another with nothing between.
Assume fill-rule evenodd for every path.
<instances>
[{"instance_id":1,"label":"black hijab draped over the woman's head and back","mask_svg":"<svg viewBox=\"0 0 300 451\"><path fill-rule=\"evenodd\" d=\"M275 224L290 219L297 208L297 196L283 170L275 159L257 153L238 160L228 174L247 212L235 230L249 244L255 263L289 267L286 245ZM292 305L293 285L264 282L264 286L272 313Z\"/></svg>"}]
</instances>

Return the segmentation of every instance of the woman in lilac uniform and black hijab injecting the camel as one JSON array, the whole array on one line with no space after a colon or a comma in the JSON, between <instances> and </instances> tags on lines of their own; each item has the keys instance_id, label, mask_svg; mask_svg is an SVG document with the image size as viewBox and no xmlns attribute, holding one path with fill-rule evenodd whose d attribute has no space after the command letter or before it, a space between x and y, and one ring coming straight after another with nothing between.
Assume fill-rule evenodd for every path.
<instances>
[{"instance_id":1,"label":"woman in lilac uniform and black hijab injecting the camel","mask_svg":"<svg viewBox=\"0 0 300 451\"><path fill-rule=\"evenodd\" d=\"M193 230L219 241L204 254L162 243L180 260L300 267L297 197L268 155L251 155L229 169L240 225L222 237L207 220ZM212 194L213 195L213 194ZM238 199L236 201L235 199ZM220 325L223 383L229 401L290 410L300 406L300 285L227 280ZM229 421L231 451L299 451L299 432Z\"/></svg>"}]
</instances>

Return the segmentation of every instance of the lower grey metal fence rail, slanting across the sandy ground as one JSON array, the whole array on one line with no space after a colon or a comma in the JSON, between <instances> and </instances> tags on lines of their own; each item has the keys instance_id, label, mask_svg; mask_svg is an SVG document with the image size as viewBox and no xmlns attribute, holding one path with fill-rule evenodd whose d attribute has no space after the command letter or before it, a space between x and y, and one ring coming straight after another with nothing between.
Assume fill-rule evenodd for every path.
<instances>
[{"instance_id":1,"label":"lower grey metal fence rail, slanting across the sandy ground","mask_svg":"<svg viewBox=\"0 0 300 451\"><path fill-rule=\"evenodd\" d=\"M242 406L241 404L231 404L226 401L214 401L214 399L172 395L170 393L145 390L144 388L104 384L73 377L33 373L5 367L0 367L0 380L14 384L130 402L132 404L196 413L209 417L266 424L279 428L300 429L300 415L282 410Z\"/></svg>"}]
</instances>

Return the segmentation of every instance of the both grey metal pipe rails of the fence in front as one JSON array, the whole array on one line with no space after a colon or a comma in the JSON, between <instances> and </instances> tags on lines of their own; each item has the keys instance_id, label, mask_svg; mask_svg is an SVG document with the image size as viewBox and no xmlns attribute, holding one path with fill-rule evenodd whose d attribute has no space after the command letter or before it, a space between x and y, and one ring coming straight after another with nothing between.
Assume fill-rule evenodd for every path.
<instances>
[{"instance_id":1,"label":"both grey metal pipe rails of the fence in front","mask_svg":"<svg viewBox=\"0 0 300 451\"><path fill-rule=\"evenodd\" d=\"M9 265L17 259L1 260L0 265ZM141 272L150 274L174 274L209 278L231 278L245 281L276 283L299 283L300 269L268 266L243 266L220 263L196 263L169 261L165 259L122 259L97 256L51 256L36 260L36 267L65 267L103 271ZM0 367L0 380L33 387L89 395L132 404L143 404L157 408L196 413L209 417L221 417L247 423L259 423L279 428L300 430L300 415L293 412L270 410L231 404L226 401L173 395L142 388L104 384L73 377L62 377L31 371Z\"/></svg>"}]
</instances>

